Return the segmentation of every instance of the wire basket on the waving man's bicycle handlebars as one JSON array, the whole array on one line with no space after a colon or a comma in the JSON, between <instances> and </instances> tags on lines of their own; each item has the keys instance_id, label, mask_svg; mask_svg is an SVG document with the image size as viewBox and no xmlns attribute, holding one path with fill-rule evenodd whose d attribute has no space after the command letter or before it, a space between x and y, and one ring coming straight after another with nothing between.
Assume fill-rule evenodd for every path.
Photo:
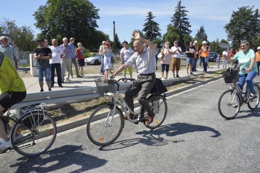
<instances>
[{"instance_id":1,"label":"wire basket on the waving man's bicycle handlebars","mask_svg":"<svg viewBox=\"0 0 260 173\"><path fill-rule=\"evenodd\" d=\"M116 80L95 79L97 90L101 96L110 96L116 93Z\"/></svg>"}]
</instances>

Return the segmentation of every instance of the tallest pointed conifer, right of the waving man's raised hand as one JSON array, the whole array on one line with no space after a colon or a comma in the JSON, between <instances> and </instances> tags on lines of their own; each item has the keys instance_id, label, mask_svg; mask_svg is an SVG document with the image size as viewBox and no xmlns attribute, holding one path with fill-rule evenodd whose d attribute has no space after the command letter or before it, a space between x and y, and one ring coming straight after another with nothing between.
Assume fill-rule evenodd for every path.
<instances>
[{"instance_id":1,"label":"tallest pointed conifer, right of the waving man's raised hand","mask_svg":"<svg viewBox=\"0 0 260 173\"><path fill-rule=\"evenodd\" d=\"M182 33L185 34L190 34L191 30L189 29L191 27L190 22L188 21L189 18L187 18L187 11L185 6L181 5L181 1L177 3L177 6L175 7L175 13L173 14L171 22L173 25L181 29Z\"/></svg>"}]
</instances>

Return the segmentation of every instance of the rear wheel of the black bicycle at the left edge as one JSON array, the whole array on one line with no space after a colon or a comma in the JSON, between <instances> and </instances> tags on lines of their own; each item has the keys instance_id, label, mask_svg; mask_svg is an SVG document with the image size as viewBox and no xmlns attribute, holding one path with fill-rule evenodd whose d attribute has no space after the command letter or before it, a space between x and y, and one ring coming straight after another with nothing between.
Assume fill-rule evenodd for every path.
<instances>
[{"instance_id":1,"label":"rear wheel of the black bicycle at the left edge","mask_svg":"<svg viewBox=\"0 0 260 173\"><path fill-rule=\"evenodd\" d=\"M47 113L28 112L15 123L11 132L14 149L23 156L37 156L47 151L53 144L57 128ZM19 143L20 141L20 143Z\"/></svg>"}]
</instances>

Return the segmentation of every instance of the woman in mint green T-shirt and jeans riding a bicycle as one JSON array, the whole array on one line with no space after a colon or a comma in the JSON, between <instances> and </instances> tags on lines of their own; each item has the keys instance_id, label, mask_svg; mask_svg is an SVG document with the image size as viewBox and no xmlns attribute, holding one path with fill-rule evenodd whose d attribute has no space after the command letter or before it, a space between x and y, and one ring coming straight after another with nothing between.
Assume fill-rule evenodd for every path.
<instances>
[{"instance_id":1,"label":"woman in mint green T-shirt and jeans riding a bicycle","mask_svg":"<svg viewBox=\"0 0 260 173\"><path fill-rule=\"evenodd\" d=\"M250 49L250 45L247 40L241 42L240 48L242 51L237 52L237 54L234 57L231 57L229 59L226 55L223 54L223 58L225 58L225 60L227 60L230 63L233 63L234 61L238 60L240 69L245 69L245 71L239 72L238 86L243 91L245 82L247 82L247 85L251 93L249 99L254 99L255 89L253 79L257 75L255 52L254 50Z\"/></svg>"}]
</instances>

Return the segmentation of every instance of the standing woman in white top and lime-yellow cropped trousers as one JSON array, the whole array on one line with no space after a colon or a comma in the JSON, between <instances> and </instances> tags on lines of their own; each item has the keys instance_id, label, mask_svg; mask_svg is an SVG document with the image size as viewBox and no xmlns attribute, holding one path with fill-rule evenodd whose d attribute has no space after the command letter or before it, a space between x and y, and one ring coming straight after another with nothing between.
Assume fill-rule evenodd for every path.
<instances>
[{"instance_id":1,"label":"standing woman in white top and lime-yellow cropped trousers","mask_svg":"<svg viewBox=\"0 0 260 173\"><path fill-rule=\"evenodd\" d=\"M121 59L121 63L122 65L126 63L126 61L132 56L132 54L134 53L133 50L128 47L128 42L127 41L124 41L123 42L123 45L124 45L124 48L121 49L120 51L120 59ZM124 78L126 78L126 71L127 69L125 69L123 71L123 74L124 74ZM131 67L128 67L128 71L129 71L129 75L130 75L130 78L132 78L132 66Z\"/></svg>"}]
</instances>

